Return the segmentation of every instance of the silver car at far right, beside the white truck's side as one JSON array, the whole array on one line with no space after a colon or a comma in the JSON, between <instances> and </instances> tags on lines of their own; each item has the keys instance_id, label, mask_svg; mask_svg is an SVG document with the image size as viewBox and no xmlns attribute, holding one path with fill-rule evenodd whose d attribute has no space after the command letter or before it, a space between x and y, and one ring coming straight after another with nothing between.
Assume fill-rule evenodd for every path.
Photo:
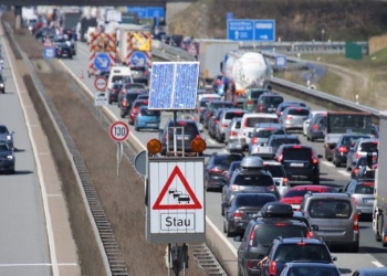
<instances>
[{"instance_id":1,"label":"silver car at far right, beside the white truck's side","mask_svg":"<svg viewBox=\"0 0 387 276\"><path fill-rule=\"evenodd\" d=\"M374 208L374 179L352 179L344 188L355 200L356 210L359 214L372 215Z\"/></svg>"}]
</instances>

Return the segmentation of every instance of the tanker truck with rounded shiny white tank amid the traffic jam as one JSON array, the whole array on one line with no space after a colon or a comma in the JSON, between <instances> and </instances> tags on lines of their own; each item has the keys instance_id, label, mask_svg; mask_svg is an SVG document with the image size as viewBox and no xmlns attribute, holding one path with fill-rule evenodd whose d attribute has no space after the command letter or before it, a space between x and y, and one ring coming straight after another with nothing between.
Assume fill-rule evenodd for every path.
<instances>
[{"instance_id":1,"label":"tanker truck with rounded shiny white tank amid the traffic jam","mask_svg":"<svg viewBox=\"0 0 387 276\"><path fill-rule=\"evenodd\" d=\"M223 64L224 76L236 96L244 96L249 88L265 88L270 83L271 65L259 52L230 51Z\"/></svg>"}]
</instances>

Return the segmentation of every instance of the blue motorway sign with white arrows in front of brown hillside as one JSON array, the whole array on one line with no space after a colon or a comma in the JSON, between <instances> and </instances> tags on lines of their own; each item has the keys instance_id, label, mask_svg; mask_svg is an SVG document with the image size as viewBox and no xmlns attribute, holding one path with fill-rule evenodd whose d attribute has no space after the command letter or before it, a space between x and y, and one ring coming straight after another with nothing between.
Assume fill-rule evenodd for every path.
<instances>
[{"instance_id":1,"label":"blue motorway sign with white arrows in front of brown hillside","mask_svg":"<svg viewBox=\"0 0 387 276\"><path fill-rule=\"evenodd\" d=\"M234 41L275 41L275 20L272 19L229 19L227 39Z\"/></svg>"}]
</instances>

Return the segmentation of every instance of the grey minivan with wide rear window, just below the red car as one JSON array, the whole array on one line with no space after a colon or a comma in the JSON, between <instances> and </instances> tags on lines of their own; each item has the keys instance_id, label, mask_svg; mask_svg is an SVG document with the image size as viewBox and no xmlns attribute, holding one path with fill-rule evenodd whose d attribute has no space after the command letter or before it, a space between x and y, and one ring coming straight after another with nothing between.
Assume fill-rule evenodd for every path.
<instances>
[{"instance_id":1,"label":"grey minivan with wide rear window, just below the red car","mask_svg":"<svg viewBox=\"0 0 387 276\"><path fill-rule=\"evenodd\" d=\"M358 252L358 213L351 194L307 192L300 211L310 221L314 237L323 238L328 246L339 245Z\"/></svg>"}]
</instances>

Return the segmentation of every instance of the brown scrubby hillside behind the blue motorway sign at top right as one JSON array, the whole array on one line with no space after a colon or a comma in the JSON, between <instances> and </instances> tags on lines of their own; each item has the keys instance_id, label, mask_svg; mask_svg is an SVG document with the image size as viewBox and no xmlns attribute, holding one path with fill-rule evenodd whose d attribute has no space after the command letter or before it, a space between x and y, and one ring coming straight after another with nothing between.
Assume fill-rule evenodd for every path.
<instances>
[{"instance_id":1,"label":"brown scrubby hillside behind the blue motorway sign at top right","mask_svg":"<svg viewBox=\"0 0 387 276\"><path fill-rule=\"evenodd\" d=\"M228 12L274 19L282 41L365 41L387 33L387 2L368 0L199 0L169 22L169 33L226 39Z\"/></svg>"}]
</instances>

